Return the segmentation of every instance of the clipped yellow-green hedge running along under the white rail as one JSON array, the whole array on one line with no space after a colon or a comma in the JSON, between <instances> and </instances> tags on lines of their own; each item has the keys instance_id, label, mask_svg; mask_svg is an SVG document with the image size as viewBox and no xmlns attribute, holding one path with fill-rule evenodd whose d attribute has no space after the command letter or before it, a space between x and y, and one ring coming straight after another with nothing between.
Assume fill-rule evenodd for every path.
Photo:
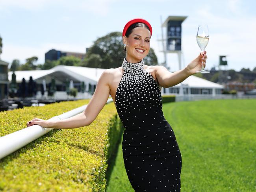
<instances>
[{"instance_id":1,"label":"clipped yellow-green hedge running along under the white rail","mask_svg":"<svg viewBox=\"0 0 256 192\"><path fill-rule=\"evenodd\" d=\"M89 102L78 100L0 112L0 137ZM0 160L2 191L105 191L107 159L122 133L113 102L90 126L54 129Z\"/></svg>"}]
</instances>

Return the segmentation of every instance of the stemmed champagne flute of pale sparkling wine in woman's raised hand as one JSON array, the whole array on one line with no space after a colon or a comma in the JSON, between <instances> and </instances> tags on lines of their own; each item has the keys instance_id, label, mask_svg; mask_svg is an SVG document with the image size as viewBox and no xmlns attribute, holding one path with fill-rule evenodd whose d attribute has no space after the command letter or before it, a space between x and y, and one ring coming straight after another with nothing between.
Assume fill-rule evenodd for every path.
<instances>
[{"instance_id":1,"label":"stemmed champagne flute of pale sparkling wine in woman's raised hand","mask_svg":"<svg viewBox=\"0 0 256 192\"><path fill-rule=\"evenodd\" d=\"M202 54L204 54L204 49L206 48L208 42L209 42L208 25L201 24L198 26L198 29L197 29L197 44L200 47ZM210 73L210 71L204 70L203 62L201 64L202 64L201 70L196 71L196 73Z\"/></svg>"}]
</instances>

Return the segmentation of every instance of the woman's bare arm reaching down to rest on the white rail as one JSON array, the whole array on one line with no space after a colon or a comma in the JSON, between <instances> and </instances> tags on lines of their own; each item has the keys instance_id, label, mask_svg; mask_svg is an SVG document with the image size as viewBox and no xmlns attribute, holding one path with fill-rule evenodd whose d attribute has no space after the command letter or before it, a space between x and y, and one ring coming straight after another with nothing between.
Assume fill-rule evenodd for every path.
<instances>
[{"instance_id":1,"label":"woman's bare arm reaching down to rest on the white rail","mask_svg":"<svg viewBox=\"0 0 256 192\"><path fill-rule=\"evenodd\" d=\"M113 78L111 69L107 69L101 74L95 92L82 113L62 120L42 120L33 118L33 120L30 121L30 124L27 123L27 127L35 124L44 128L54 129L72 129L89 126L98 116L109 98L109 82L111 81L111 78Z\"/></svg>"}]
</instances>

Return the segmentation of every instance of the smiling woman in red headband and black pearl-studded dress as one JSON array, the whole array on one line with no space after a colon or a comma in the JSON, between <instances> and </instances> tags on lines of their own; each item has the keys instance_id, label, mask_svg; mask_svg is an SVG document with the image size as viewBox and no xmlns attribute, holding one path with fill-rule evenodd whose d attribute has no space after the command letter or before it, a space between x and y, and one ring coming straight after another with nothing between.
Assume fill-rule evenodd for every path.
<instances>
[{"instance_id":1,"label":"smiling woman in red headband and black pearl-studded dress","mask_svg":"<svg viewBox=\"0 0 256 192\"><path fill-rule=\"evenodd\" d=\"M122 151L128 179L136 192L180 191L182 158L174 131L162 112L161 87L172 87L205 66L206 52L174 73L163 66L144 65L152 27L144 19L130 20L122 34L126 58L121 67L105 70L83 113L52 121L34 118L45 128L70 129L90 125L109 94L124 125Z\"/></svg>"}]
</instances>

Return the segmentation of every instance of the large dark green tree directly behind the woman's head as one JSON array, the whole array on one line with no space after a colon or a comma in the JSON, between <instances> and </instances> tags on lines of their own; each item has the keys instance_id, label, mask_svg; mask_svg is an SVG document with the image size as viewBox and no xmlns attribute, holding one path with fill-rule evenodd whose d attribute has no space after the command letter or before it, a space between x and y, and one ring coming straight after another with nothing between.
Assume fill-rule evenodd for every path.
<instances>
[{"instance_id":1,"label":"large dark green tree directly behind the woman's head","mask_svg":"<svg viewBox=\"0 0 256 192\"><path fill-rule=\"evenodd\" d=\"M88 60L96 60L95 55L94 57L91 57L92 54L100 55L102 59L101 62L100 59L98 59L98 63L96 64L96 66L92 65L93 62L91 62L89 65ZM121 66L125 56L126 54L124 52L124 46L122 42L122 33L111 32L104 37L98 38L93 43L93 45L88 49L87 53L85 54L85 59L82 62L82 65L89 65L91 67L100 66L100 68L117 68ZM144 58L144 61L146 65L158 64L157 57L152 48L150 48L150 51L148 55Z\"/></svg>"}]
</instances>

